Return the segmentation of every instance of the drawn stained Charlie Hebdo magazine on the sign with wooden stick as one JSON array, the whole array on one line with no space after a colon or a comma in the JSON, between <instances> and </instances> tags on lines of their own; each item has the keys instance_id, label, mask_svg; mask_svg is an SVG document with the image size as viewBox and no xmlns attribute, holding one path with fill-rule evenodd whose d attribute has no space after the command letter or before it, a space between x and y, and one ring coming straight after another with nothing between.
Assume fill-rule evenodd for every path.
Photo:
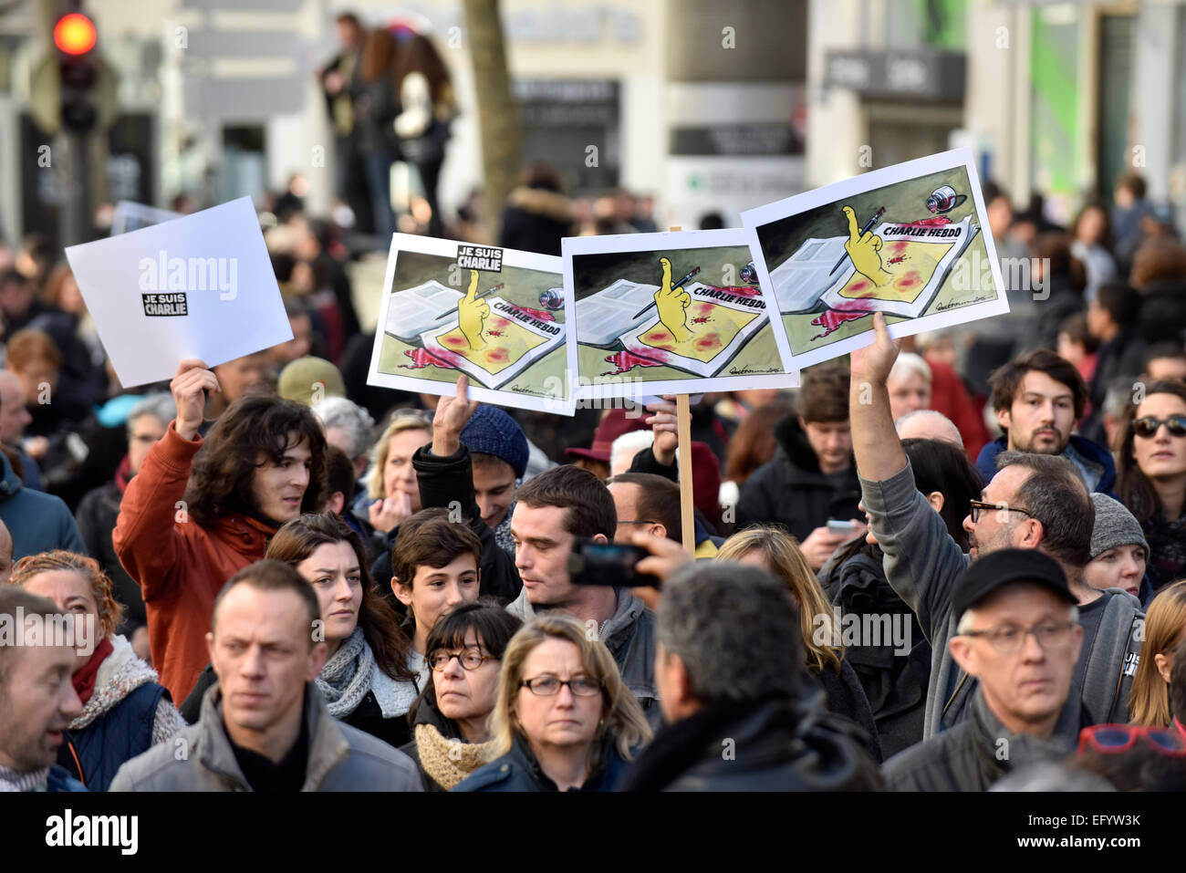
<instances>
[{"instance_id":1,"label":"drawn stained Charlie Hebdo magazine on the sign with wooden stick","mask_svg":"<svg viewBox=\"0 0 1186 873\"><path fill-rule=\"evenodd\" d=\"M687 286L691 302L687 325L691 336L676 340L651 310L645 324L627 331L623 345L635 355L676 367L696 376L716 376L767 321L766 305L757 288L751 294L713 288L701 282ZM732 293L731 293L732 292ZM772 372L780 362L771 362Z\"/></svg>"}]
</instances>

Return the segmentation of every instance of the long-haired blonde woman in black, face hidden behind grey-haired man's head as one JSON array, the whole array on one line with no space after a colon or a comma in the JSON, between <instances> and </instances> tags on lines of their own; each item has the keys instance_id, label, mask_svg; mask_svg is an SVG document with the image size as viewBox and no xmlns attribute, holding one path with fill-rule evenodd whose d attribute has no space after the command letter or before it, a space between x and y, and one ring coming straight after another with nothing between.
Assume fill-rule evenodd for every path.
<instances>
[{"instance_id":1,"label":"long-haired blonde woman in black, face hidden behind grey-haired man's head","mask_svg":"<svg viewBox=\"0 0 1186 873\"><path fill-rule=\"evenodd\" d=\"M795 537L779 527L748 527L726 540L715 560L758 567L786 585L799 610L808 669L823 686L828 708L865 728L869 735L866 744L869 753L880 762L881 745L873 709L860 677L844 657L842 627L836 625L823 586Z\"/></svg>"}]
</instances>

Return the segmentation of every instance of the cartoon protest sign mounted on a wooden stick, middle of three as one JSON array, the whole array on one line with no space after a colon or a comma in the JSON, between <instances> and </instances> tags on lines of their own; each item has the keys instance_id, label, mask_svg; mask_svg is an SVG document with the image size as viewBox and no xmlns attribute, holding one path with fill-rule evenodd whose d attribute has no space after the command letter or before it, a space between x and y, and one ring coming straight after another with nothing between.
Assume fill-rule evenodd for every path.
<instances>
[{"instance_id":1,"label":"cartoon protest sign mounted on a wooden stick, middle of three","mask_svg":"<svg viewBox=\"0 0 1186 873\"><path fill-rule=\"evenodd\" d=\"M575 300L578 397L785 388L786 338L744 230L561 242Z\"/></svg>"}]
</instances>

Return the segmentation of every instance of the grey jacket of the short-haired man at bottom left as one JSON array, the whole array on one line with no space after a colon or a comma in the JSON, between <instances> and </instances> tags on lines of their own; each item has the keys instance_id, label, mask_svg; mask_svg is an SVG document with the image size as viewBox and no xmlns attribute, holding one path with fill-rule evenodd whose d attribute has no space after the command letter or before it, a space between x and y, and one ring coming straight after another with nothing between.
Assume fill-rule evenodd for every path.
<instances>
[{"instance_id":1,"label":"grey jacket of the short-haired man at bottom left","mask_svg":"<svg viewBox=\"0 0 1186 873\"><path fill-rule=\"evenodd\" d=\"M111 791L250 791L222 720L222 693L202 699L196 725L133 758L115 775ZM305 687L308 763L301 791L423 791L420 771L403 752L336 721L325 699Z\"/></svg>"}]
</instances>

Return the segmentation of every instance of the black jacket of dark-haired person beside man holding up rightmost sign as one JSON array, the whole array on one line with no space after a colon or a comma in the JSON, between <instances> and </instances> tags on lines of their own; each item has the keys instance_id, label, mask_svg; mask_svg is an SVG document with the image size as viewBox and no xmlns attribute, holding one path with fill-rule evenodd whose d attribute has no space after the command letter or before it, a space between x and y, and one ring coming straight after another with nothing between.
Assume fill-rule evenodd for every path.
<instances>
[{"instance_id":1,"label":"black jacket of dark-haired person beside man holding up rightmost sign","mask_svg":"<svg viewBox=\"0 0 1186 873\"><path fill-rule=\"evenodd\" d=\"M890 758L923 739L931 644L918 618L890 587L881 557L876 546L843 548L820 571L820 581L842 616L891 616L891 627L908 626L911 649L905 657L890 641L844 650L844 663L855 670L873 710L881 752Z\"/></svg>"}]
</instances>

